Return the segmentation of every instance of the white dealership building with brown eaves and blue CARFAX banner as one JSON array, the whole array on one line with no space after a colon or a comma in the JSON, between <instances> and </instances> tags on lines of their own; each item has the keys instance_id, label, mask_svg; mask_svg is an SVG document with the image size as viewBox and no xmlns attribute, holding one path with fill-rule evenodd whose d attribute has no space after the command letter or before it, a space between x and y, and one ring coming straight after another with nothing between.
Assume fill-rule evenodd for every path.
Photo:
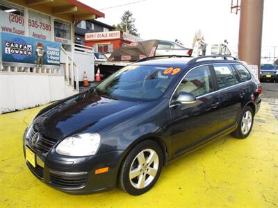
<instances>
[{"instance_id":1,"label":"white dealership building with brown eaves and blue CARFAX banner","mask_svg":"<svg viewBox=\"0 0 278 208\"><path fill-rule=\"evenodd\" d=\"M98 17L76 0L0 0L0 114L77 94L94 60L76 52L74 27Z\"/></svg>"}]
</instances>

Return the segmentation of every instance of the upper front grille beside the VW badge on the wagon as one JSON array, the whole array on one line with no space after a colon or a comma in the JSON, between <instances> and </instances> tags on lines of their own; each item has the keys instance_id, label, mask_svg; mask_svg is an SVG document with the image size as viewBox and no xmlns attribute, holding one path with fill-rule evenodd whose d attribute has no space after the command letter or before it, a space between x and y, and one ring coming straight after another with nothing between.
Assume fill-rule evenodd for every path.
<instances>
[{"instance_id":1,"label":"upper front grille beside the VW badge on the wagon","mask_svg":"<svg viewBox=\"0 0 278 208\"><path fill-rule=\"evenodd\" d=\"M30 135L28 135L28 138L31 140L35 133L36 131L34 130L34 128L32 128L30 131ZM35 144L35 149L39 150L42 153L48 153L55 144L56 141L54 139L42 135L42 137L40 137L40 140Z\"/></svg>"}]
</instances>

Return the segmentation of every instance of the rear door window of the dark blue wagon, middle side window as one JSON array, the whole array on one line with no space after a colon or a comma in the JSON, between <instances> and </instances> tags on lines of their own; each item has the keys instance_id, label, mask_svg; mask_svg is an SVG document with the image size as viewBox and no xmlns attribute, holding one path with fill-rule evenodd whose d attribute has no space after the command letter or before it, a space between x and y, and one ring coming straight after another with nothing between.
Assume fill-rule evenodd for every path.
<instances>
[{"instance_id":1,"label":"rear door window of the dark blue wagon, middle side window","mask_svg":"<svg viewBox=\"0 0 278 208\"><path fill-rule=\"evenodd\" d=\"M229 64L213 65L216 78L218 81L218 88L223 89L239 83L236 78L236 71Z\"/></svg>"}]
</instances>

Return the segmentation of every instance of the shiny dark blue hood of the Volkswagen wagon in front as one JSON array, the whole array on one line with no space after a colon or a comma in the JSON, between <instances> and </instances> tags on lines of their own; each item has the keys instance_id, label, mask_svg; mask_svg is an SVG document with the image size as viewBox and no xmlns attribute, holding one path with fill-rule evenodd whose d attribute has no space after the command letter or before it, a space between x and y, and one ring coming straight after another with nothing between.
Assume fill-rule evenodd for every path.
<instances>
[{"instance_id":1,"label":"shiny dark blue hood of the Volkswagen wagon in front","mask_svg":"<svg viewBox=\"0 0 278 208\"><path fill-rule=\"evenodd\" d=\"M38 116L33 127L44 137L60 140L79 132L90 132L95 126L106 128L109 121L121 119L126 114L130 117L146 105L148 104L119 101L85 92Z\"/></svg>"}]
</instances>

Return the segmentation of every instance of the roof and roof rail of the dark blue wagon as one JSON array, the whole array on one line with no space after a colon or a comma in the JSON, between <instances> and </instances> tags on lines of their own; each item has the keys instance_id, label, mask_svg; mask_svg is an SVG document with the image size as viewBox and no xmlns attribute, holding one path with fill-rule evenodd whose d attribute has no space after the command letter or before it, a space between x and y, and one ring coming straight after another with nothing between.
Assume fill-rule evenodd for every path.
<instances>
[{"instance_id":1,"label":"roof and roof rail of the dark blue wagon","mask_svg":"<svg viewBox=\"0 0 278 208\"><path fill-rule=\"evenodd\" d=\"M158 66L158 67L179 67L184 68L188 66L188 62L193 60L193 57L183 57L183 58L158 58L155 60L146 60L142 62L136 62L136 65L148 65L148 66ZM209 63L226 63L226 62L233 62L233 63L240 63L238 60L223 60L223 59L202 59L197 62L194 62L190 65L199 65L199 64L209 64Z\"/></svg>"}]
</instances>

